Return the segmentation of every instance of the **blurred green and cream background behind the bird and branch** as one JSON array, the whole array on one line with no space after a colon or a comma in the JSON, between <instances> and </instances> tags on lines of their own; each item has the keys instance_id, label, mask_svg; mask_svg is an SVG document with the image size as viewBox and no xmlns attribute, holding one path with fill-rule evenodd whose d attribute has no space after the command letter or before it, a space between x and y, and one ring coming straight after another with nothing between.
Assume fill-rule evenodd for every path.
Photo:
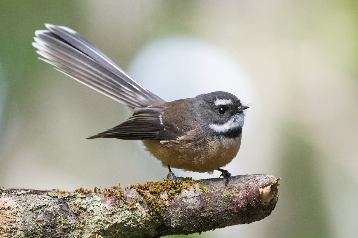
<instances>
[{"instance_id":1,"label":"blurred green and cream background behind the bird and branch","mask_svg":"<svg viewBox=\"0 0 358 238\"><path fill-rule=\"evenodd\" d=\"M125 187L167 169L139 142L85 139L131 112L37 59L44 23L165 100L222 90L249 103L226 168L281 177L279 202L262 221L185 237L357 237L357 1L1 1L0 186Z\"/></svg>"}]
</instances>

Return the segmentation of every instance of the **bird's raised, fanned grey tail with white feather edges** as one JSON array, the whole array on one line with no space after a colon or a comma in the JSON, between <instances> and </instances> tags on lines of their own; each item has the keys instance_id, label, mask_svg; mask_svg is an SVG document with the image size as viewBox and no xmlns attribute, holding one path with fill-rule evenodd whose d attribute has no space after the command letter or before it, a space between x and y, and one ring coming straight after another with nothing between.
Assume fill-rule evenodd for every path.
<instances>
[{"instance_id":1,"label":"bird's raised, fanned grey tail with white feather edges","mask_svg":"<svg viewBox=\"0 0 358 238\"><path fill-rule=\"evenodd\" d=\"M73 79L126 104L148 106L164 101L133 80L120 67L76 31L45 24L50 30L37 30L33 46L39 58Z\"/></svg>"}]
</instances>

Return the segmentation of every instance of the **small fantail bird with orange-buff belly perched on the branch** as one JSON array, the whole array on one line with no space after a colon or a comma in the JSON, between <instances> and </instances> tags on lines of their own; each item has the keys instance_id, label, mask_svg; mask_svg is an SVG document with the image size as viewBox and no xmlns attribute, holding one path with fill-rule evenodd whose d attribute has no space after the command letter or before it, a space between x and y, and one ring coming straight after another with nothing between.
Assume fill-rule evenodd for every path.
<instances>
[{"instance_id":1,"label":"small fantail bird with orange-buff belly perched on the branch","mask_svg":"<svg viewBox=\"0 0 358 238\"><path fill-rule=\"evenodd\" d=\"M133 109L128 120L89 139L141 140L147 151L168 166L167 178L179 187L179 179L170 167L209 173L218 170L228 185L231 173L221 167L231 162L240 149L247 105L221 91L166 102L76 31L45 26L48 30L35 31L32 43L43 57L39 59Z\"/></svg>"}]
</instances>

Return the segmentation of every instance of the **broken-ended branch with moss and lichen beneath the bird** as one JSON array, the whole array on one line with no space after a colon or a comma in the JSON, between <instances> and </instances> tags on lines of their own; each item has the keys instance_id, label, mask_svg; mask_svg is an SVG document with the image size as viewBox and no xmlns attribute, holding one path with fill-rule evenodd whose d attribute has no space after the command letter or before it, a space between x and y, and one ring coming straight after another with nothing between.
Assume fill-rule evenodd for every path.
<instances>
[{"instance_id":1,"label":"broken-ended branch with moss and lichen beneath the bird","mask_svg":"<svg viewBox=\"0 0 358 238\"><path fill-rule=\"evenodd\" d=\"M278 199L272 175L181 179L125 189L42 191L0 187L1 237L161 237L259 221Z\"/></svg>"}]
</instances>

